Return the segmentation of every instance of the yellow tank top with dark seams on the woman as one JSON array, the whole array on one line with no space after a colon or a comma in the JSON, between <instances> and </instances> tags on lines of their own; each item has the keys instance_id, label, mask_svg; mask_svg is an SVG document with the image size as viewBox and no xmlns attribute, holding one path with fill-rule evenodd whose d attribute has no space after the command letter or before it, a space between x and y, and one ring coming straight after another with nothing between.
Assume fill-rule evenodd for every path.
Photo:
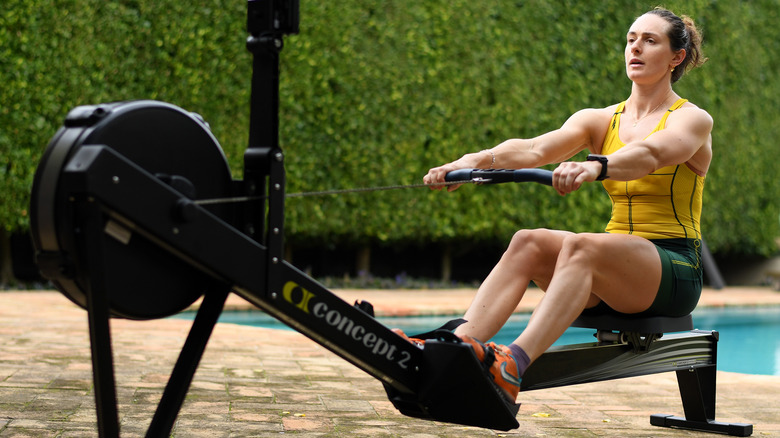
<instances>
[{"instance_id":1,"label":"yellow tank top with dark seams on the woman","mask_svg":"<svg viewBox=\"0 0 780 438\"><path fill-rule=\"evenodd\" d=\"M675 102L653 132L664 129L669 114L685 102L687 99ZM603 155L625 146L618 135L625 105L625 102L618 105L612 116L601 147ZM701 238L704 178L684 163L658 169L634 181L606 179L602 183L612 200L608 233L635 234L647 239Z\"/></svg>"}]
</instances>

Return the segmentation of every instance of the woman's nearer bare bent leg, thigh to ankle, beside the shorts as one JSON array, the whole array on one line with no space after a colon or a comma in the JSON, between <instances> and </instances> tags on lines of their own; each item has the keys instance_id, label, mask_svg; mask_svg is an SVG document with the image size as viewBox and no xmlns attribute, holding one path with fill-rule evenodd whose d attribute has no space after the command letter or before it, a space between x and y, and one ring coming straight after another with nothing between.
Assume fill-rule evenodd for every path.
<instances>
[{"instance_id":1,"label":"woman's nearer bare bent leg, thigh to ankle, beside the shorts","mask_svg":"<svg viewBox=\"0 0 780 438\"><path fill-rule=\"evenodd\" d=\"M660 283L661 260L650 241L623 234L569 235L545 296L514 343L533 361L586 307L603 300L619 312L642 312Z\"/></svg>"}]
</instances>

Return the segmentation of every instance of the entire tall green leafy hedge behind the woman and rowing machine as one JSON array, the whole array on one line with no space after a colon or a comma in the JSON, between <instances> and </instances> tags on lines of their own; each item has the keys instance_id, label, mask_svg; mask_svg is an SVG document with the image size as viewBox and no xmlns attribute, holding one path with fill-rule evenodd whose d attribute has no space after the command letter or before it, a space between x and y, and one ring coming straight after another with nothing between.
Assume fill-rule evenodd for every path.
<instances>
[{"instance_id":1,"label":"entire tall green leafy hedge behind the woman and rowing machine","mask_svg":"<svg viewBox=\"0 0 780 438\"><path fill-rule=\"evenodd\" d=\"M63 4L64 3L64 4ZM67 111L124 99L202 114L237 178L251 57L245 3L11 0L0 9L0 225L28 226L32 175ZM704 232L719 253L769 254L780 235L777 2L673 1L710 57L676 85L715 119ZM625 99L625 32L654 4L301 1L282 52L288 191L421 182L428 168L559 127ZM678 9L679 8L679 9ZM506 241L523 227L603 229L592 184L394 190L288 200L293 245Z\"/></svg>"}]
</instances>

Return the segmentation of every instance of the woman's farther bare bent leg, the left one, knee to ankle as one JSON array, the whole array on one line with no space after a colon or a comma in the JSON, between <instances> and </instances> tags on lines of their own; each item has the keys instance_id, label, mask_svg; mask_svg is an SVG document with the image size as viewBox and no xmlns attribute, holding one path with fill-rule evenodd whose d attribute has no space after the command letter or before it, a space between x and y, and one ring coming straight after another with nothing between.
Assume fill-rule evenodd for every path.
<instances>
[{"instance_id":1,"label":"woman's farther bare bent leg, the left one, knee to ankle","mask_svg":"<svg viewBox=\"0 0 780 438\"><path fill-rule=\"evenodd\" d=\"M490 275L479 287L458 335L487 341L504 326L531 281L542 289L550 283L564 239L572 233L555 230L520 230Z\"/></svg>"}]
</instances>

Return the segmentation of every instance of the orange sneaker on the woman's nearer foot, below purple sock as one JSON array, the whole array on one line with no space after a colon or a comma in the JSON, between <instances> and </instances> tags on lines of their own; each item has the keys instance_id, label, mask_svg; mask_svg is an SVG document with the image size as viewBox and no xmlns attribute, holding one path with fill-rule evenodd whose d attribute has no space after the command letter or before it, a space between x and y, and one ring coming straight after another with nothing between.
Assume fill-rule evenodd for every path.
<instances>
[{"instance_id":1,"label":"orange sneaker on the woman's nearer foot, below purple sock","mask_svg":"<svg viewBox=\"0 0 780 438\"><path fill-rule=\"evenodd\" d=\"M477 359L482 362L486 370L490 372L493 383L501 390L504 397L510 403L514 403L517 394L520 393L520 371L517 359L512 355L509 347L496 345L493 342L487 345L468 335L460 336L460 339L471 345Z\"/></svg>"}]
</instances>

